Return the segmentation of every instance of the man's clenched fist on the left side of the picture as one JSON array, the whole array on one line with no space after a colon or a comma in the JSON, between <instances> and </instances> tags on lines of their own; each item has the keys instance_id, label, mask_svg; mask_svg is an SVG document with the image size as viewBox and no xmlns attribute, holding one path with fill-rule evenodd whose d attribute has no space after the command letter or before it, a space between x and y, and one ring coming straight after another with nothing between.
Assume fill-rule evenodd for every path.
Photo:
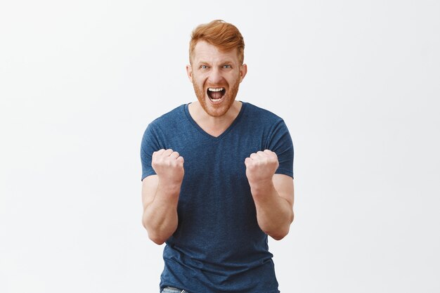
<instances>
[{"instance_id":1,"label":"man's clenched fist on the left side of the picture","mask_svg":"<svg viewBox=\"0 0 440 293\"><path fill-rule=\"evenodd\" d=\"M153 152L151 159L151 167L155 170L160 180L169 184L180 185L183 181L183 157L179 152L174 152L172 149L157 150Z\"/></svg>"}]
</instances>

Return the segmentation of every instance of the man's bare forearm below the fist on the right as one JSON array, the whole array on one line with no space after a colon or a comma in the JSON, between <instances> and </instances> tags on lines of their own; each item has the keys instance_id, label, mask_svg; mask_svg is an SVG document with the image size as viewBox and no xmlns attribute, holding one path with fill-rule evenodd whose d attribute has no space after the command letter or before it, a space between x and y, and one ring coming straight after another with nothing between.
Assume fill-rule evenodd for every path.
<instances>
[{"instance_id":1,"label":"man's bare forearm below the fist on the right","mask_svg":"<svg viewBox=\"0 0 440 293\"><path fill-rule=\"evenodd\" d=\"M293 221L292 205L278 195L272 181L251 185L251 192L261 230L275 240L285 237Z\"/></svg>"}]
</instances>

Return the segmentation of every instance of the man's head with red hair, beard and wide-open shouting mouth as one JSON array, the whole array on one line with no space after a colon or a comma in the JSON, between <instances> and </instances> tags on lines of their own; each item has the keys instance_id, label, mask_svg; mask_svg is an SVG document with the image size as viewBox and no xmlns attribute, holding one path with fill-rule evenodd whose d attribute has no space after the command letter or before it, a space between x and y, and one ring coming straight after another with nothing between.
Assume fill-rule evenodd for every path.
<instances>
[{"instance_id":1,"label":"man's head with red hair, beard and wide-open shouting mouth","mask_svg":"<svg viewBox=\"0 0 440 293\"><path fill-rule=\"evenodd\" d=\"M190 41L186 66L200 105L212 117L221 117L233 105L245 77L245 42L237 27L222 20L199 25Z\"/></svg>"}]
</instances>

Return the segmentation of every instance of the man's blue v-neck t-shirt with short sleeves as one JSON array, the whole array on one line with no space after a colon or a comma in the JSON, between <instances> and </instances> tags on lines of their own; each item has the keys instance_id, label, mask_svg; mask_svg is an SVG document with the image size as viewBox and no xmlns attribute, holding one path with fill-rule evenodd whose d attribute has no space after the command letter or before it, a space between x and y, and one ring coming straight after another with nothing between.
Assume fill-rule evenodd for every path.
<instances>
[{"instance_id":1,"label":"man's blue v-neck t-shirt with short sleeves","mask_svg":"<svg viewBox=\"0 0 440 293\"><path fill-rule=\"evenodd\" d=\"M218 137L181 105L151 122L142 139L142 179L155 174L153 152L172 148L185 159L179 225L164 247L160 287L190 293L278 293L268 238L258 226L245 174L252 152L276 152L277 174L293 177L293 145L283 119L242 103Z\"/></svg>"}]
</instances>

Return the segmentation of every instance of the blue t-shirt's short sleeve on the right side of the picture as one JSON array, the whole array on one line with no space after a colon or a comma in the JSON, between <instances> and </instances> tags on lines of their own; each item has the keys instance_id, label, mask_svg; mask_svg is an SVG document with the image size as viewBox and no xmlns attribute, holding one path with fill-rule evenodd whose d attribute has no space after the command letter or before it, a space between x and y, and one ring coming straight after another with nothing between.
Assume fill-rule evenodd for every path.
<instances>
[{"instance_id":1,"label":"blue t-shirt's short sleeve on the right side of the picture","mask_svg":"<svg viewBox=\"0 0 440 293\"><path fill-rule=\"evenodd\" d=\"M268 138L268 149L276 153L280 163L275 173L293 178L293 143L289 129L283 120L273 127Z\"/></svg>"}]
</instances>

